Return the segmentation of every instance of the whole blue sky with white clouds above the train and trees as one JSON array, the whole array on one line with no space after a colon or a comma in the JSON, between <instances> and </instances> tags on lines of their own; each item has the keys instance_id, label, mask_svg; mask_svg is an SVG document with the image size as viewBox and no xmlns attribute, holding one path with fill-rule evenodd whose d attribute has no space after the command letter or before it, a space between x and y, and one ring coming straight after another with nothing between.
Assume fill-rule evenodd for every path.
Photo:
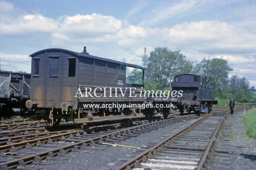
<instances>
[{"instance_id":1,"label":"whole blue sky with white clouds above the train and trees","mask_svg":"<svg viewBox=\"0 0 256 170\"><path fill-rule=\"evenodd\" d=\"M256 0L0 0L0 70L30 73L30 54L84 46L137 65L144 47L222 57L256 87Z\"/></svg>"}]
</instances>

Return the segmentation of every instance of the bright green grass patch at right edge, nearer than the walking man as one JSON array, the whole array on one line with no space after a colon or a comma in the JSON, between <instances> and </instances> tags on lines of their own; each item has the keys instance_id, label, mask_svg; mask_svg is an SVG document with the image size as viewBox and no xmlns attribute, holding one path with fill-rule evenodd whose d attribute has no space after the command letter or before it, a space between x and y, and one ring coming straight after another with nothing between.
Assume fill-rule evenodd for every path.
<instances>
[{"instance_id":1,"label":"bright green grass patch at right edge, nearer than the walking man","mask_svg":"<svg viewBox=\"0 0 256 170\"><path fill-rule=\"evenodd\" d=\"M245 133L250 137L256 139L256 108L248 110L243 116L245 123Z\"/></svg>"}]
</instances>

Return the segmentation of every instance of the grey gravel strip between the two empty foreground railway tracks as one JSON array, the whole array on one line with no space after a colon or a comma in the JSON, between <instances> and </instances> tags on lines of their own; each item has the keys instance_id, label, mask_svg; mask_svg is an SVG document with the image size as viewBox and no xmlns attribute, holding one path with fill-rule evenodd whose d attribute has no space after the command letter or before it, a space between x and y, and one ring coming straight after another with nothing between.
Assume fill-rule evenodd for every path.
<instances>
[{"instance_id":1,"label":"grey gravel strip between the two empty foreground railway tracks","mask_svg":"<svg viewBox=\"0 0 256 170\"><path fill-rule=\"evenodd\" d=\"M198 118L197 118L198 119ZM133 137L117 144L132 146L132 147L148 147L153 143L158 143L158 139L165 134L174 134L181 128L195 122L197 119L191 119L187 121L182 121L168 125L164 128L159 128L158 130L152 130L151 132L143 133L137 137ZM98 147L97 147L98 148ZM52 166L39 166L39 165L29 165L26 167L37 167L46 170L59 170L59 169L86 169L86 170L96 170L96 169L113 169L121 165L126 159L133 157L136 152L143 152L140 149L133 149L128 147L102 147L103 150L90 149L88 153L81 152L70 152L67 153L65 161L47 161L42 162L52 162ZM121 160L123 159L123 160Z\"/></svg>"}]
</instances>

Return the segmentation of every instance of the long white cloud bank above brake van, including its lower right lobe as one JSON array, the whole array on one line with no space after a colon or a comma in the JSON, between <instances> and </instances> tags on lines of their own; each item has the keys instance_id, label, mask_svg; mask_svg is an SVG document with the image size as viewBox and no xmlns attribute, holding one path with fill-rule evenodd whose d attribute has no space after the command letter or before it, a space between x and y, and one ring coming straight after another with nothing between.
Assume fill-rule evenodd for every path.
<instances>
[{"instance_id":1,"label":"long white cloud bank above brake van, including its lower right lobe","mask_svg":"<svg viewBox=\"0 0 256 170\"><path fill-rule=\"evenodd\" d=\"M64 16L59 29L52 33L55 45L59 43L117 43L127 47L147 38L147 31L138 26L122 25L112 16L93 13L92 15Z\"/></svg>"}]
</instances>

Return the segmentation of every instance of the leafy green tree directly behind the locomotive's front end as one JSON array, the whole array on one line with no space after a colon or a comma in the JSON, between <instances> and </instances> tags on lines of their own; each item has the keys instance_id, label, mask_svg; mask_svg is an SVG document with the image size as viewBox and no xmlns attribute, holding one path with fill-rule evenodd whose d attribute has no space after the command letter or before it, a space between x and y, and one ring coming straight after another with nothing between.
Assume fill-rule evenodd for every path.
<instances>
[{"instance_id":1,"label":"leafy green tree directly behind the locomotive's front end","mask_svg":"<svg viewBox=\"0 0 256 170\"><path fill-rule=\"evenodd\" d=\"M196 70L196 69L195 69ZM213 90L213 96L222 98L222 91L228 85L228 73L233 69L223 58L204 58L198 65L198 74L207 77L206 85Z\"/></svg>"}]
</instances>

